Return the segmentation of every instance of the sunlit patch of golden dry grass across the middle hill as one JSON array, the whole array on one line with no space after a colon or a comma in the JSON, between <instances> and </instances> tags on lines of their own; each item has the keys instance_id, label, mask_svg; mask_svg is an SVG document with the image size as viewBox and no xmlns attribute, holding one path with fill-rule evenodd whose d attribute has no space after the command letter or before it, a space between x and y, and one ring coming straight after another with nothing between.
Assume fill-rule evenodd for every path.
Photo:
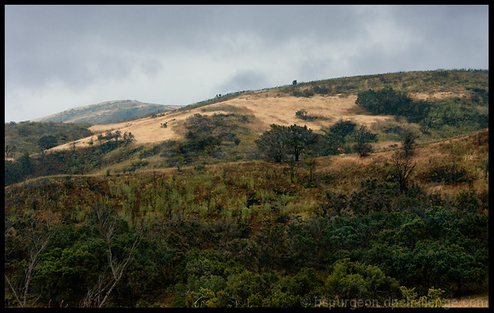
<instances>
[{"instance_id":1,"label":"sunlit patch of golden dry grass across the middle hill","mask_svg":"<svg viewBox=\"0 0 494 313\"><path fill-rule=\"evenodd\" d=\"M329 127L340 118L350 119L355 123L364 123L369 127L377 123L390 121L392 116L373 116L362 114L360 108L355 104L356 95L348 97L266 97L262 92L250 92L248 95L214 103L208 105L208 112L204 112L204 107L191 110L169 112L155 118L140 118L134 121L121 123L93 125L90 130L94 134L105 133L107 131L119 130L131 132L137 144L162 142L165 140L176 140L182 138L183 129L180 125L189 116L199 113L211 115L215 113L226 113L222 110L224 105L231 105L239 108L240 111L248 111L255 116L255 122L250 128L255 132L263 132L269 129L272 123L279 125L307 125L307 127L318 131L322 127ZM214 110L217 108L217 110ZM309 115L324 116L327 120L303 121L296 117L295 112L301 109L307 110ZM168 122L167 127L161 127L161 123ZM92 136L97 142L97 136ZM75 147L87 147L91 137L82 138L75 141ZM69 142L52 150L71 149L73 143Z\"/></svg>"}]
</instances>

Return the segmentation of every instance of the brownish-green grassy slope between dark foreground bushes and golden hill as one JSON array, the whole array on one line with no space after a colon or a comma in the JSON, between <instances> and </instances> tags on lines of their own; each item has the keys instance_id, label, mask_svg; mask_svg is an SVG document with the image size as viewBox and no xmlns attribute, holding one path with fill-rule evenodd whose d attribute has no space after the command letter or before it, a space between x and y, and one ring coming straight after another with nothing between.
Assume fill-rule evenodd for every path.
<instances>
[{"instance_id":1,"label":"brownish-green grassy slope between dark foreground bushes and golden hill","mask_svg":"<svg viewBox=\"0 0 494 313\"><path fill-rule=\"evenodd\" d=\"M412 179L425 191L440 197L455 197L462 190L475 190L478 195L489 194L489 178L484 176L483 168L484 161L489 159L488 131L422 144L416 152L417 166ZM89 218L91 205L103 201L117 208L117 214L122 218L141 216L145 221L159 221L167 218L167 210L163 210L163 204L158 202L163 196L160 193L163 187L160 186L164 184L181 190L180 196L176 195L178 198L169 199L169 210L182 210L181 216L185 220L196 217L207 223L217 218L228 218L231 216L228 214L241 214L250 219L250 227L255 229L266 216L274 214L274 209L279 210L276 214L280 216L296 216L303 221L314 216L320 203L325 201L325 190L349 195L357 190L364 179L386 179L392 172L391 154L392 150L373 153L366 158L358 158L357 155L318 158L316 186L309 188L306 167L301 166L296 183L291 184L290 175L283 164L262 161L215 164L203 171L185 166L180 172L176 168L162 168L109 177L38 177L5 187L5 214L21 218L24 212L34 208L39 216L49 218L51 223L78 225ZM427 173L432 168L451 163L466 168L472 180L447 184L427 179ZM249 206L250 199L257 202ZM221 212L211 210L211 206L224 209ZM483 214L489 216L489 210L484 210ZM484 305L482 303L489 301L485 295L481 299L484 302L472 302L471 299L478 297L449 299L447 305L475 306L475 303Z\"/></svg>"}]
</instances>

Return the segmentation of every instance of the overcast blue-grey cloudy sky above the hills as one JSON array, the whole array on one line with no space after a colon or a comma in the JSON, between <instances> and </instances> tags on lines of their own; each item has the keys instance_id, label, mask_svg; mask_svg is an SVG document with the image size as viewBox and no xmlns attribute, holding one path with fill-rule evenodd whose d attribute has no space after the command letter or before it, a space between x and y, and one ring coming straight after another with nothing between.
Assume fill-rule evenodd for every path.
<instances>
[{"instance_id":1,"label":"overcast blue-grey cloudy sky above the hills","mask_svg":"<svg viewBox=\"0 0 494 313\"><path fill-rule=\"evenodd\" d=\"M320 79L489 69L488 5L5 5L5 122Z\"/></svg>"}]
</instances>

